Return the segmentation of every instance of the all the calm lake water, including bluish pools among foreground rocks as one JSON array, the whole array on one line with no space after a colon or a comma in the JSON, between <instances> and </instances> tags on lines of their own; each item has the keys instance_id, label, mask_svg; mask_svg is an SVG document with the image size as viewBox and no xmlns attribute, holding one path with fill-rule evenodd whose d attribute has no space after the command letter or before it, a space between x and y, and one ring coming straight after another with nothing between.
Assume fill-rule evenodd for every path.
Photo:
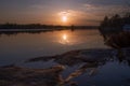
<instances>
[{"instance_id":1,"label":"all the calm lake water, including bluish pools among foreground rocks","mask_svg":"<svg viewBox=\"0 0 130 86\"><path fill-rule=\"evenodd\" d=\"M17 33L0 35L0 66L16 63L28 68L49 68L57 64L54 60L24 63L25 60L39 56L52 56L73 49L95 49L108 47L98 30L61 30L40 33ZM69 75L81 64L69 67L63 77ZM130 86L130 67L117 58L96 67L96 73L88 72L73 78L79 86Z\"/></svg>"}]
</instances>

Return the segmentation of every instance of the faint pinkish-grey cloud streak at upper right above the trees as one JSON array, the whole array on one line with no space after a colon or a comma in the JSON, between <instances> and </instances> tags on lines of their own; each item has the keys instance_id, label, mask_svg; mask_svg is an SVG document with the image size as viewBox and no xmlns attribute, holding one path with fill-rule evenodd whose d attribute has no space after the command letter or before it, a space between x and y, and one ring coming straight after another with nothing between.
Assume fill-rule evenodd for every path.
<instances>
[{"instance_id":1,"label":"faint pinkish-grey cloud streak at upper right above the trees","mask_svg":"<svg viewBox=\"0 0 130 86\"><path fill-rule=\"evenodd\" d=\"M120 14L130 10L128 5L121 5L121 4L105 5L105 4L84 3L82 4L82 8L84 9L86 12L94 14L96 16L113 15L115 13Z\"/></svg>"}]
</instances>

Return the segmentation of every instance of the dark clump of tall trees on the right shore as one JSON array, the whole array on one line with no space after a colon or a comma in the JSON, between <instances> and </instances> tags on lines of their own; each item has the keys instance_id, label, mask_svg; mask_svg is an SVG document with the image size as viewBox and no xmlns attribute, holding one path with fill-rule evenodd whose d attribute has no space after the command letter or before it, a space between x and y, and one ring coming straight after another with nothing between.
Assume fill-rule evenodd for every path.
<instances>
[{"instance_id":1,"label":"dark clump of tall trees on the right shore","mask_svg":"<svg viewBox=\"0 0 130 86\"><path fill-rule=\"evenodd\" d=\"M130 13L126 13L123 16L119 14L115 14L112 17L105 16L99 29L101 34L106 38L112 33L121 32L125 25L130 25Z\"/></svg>"}]
</instances>

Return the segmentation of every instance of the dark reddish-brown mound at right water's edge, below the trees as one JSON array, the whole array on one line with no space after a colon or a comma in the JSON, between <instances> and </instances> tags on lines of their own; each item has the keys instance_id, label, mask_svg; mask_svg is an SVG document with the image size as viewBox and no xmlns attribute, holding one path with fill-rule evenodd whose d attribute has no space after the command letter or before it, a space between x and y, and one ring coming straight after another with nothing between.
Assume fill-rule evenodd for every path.
<instances>
[{"instance_id":1,"label":"dark reddish-brown mound at right water's edge, below the trees","mask_svg":"<svg viewBox=\"0 0 130 86\"><path fill-rule=\"evenodd\" d=\"M118 51L118 57L125 57L123 48L130 48L130 32L120 32L117 34L110 34L104 43ZM121 60L120 60L121 61Z\"/></svg>"}]
</instances>

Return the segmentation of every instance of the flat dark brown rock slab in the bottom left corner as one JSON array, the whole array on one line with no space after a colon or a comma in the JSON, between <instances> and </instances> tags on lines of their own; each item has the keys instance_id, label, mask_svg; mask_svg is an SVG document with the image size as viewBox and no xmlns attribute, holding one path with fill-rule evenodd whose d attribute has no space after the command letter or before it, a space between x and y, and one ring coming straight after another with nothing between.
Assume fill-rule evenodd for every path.
<instances>
[{"instance_id":1,"label":"flat dark brown rock slab in the bottom left corner","mask_svg":"<svg viewBox=\"0 0 130 86\"><path fill-rule=\"evenodd\" d=\"M62 66L49 69L28 69L21 67L1 67L2 86L56 86L61 83Z\"/></svg>"}]
</instances>

